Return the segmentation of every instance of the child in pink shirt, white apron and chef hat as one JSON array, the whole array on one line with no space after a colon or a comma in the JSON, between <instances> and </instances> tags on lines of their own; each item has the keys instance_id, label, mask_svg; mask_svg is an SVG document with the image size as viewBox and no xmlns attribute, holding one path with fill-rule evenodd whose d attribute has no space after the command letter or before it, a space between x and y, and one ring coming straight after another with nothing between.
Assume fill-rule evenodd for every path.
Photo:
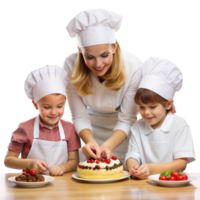
<instances>
[{"instance_id":1,"label":"child in pink shirt, white apron and chef hat","mask_svg":"<svg viewBox=\"0 0 200 200\"><path fill-rule=\"evenodd\" d=\"M4 166L38 173L49 170L62 175L76 170L80 139L73 124L62 119L66 105L67 74L60 66L47 65L31 71L24 91L38 115L20 122L12 132Z\"/></svg>"}]
</instances>

